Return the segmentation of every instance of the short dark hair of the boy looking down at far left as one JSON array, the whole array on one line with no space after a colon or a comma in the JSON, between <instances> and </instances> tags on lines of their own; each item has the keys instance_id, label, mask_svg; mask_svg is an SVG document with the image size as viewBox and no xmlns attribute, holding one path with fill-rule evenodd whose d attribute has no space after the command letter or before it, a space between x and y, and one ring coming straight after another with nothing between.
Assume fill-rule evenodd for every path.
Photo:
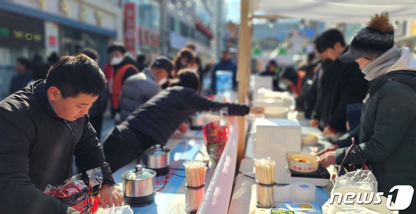
<instances>
[{"instance_id":1,"label":"short dark hair of the boy looking down at far left","mask_svg":"<svg viewBox=\"0 0 416 214\"><path fill-rule=\"evenodd\" d=\"M97 62L85 54L61 57L46 76L46 86L55 86L62 98L77 97L80 93L98 96L105 90L106 78Z\"/></svg>"}]
</instances>

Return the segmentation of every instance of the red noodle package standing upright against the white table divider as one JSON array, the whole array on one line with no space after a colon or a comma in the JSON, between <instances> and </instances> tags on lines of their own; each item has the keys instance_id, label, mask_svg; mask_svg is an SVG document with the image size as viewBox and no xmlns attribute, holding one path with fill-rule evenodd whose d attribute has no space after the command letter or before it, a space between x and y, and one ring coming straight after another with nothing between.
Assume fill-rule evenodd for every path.
<instances>
[{"instance_id":1,"label":"red noodle package standing upright against the white table divider","mask_svg":"<svg viewBox=\"0 0 416 214\"><path fill-rule=\"evenodd\" d=\"M203 126L202 133L211 160L217 163L230 136L230 125L221 125L220 121Z\"/></svg>"}]
</instances>

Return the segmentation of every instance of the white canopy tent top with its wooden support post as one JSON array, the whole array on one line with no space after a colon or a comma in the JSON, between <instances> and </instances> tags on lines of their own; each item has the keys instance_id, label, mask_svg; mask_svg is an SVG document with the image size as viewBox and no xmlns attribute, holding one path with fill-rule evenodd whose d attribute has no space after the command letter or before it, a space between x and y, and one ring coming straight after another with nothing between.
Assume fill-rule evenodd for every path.
<instances>
[{"instance_id":1,"label":"white canopy tent top with its wooden support post","mask_svg":"<svg viewBox=\"0 0 416 214\"><path fill-rule=\"evenodd\" d=\"M238 41L238 100L246 103L251 73L252 19L304 18L323 22L369 22L389 12L391 22L416 17L416 0L241 0ZM237 164L245 150L245 120L238 119ZM238 169L238 166L237 166Z\"/></svg>"}]
</instances>

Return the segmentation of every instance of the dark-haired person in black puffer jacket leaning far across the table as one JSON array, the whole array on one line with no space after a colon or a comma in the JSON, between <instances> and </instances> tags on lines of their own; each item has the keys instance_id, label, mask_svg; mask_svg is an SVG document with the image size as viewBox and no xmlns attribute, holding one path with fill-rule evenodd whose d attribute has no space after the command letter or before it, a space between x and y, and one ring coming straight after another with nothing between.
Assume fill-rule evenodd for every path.
<instances>
[{"instance_id":1,"label":"dark-haired person in black puffer jacket leaning far across the table","mask_svg":"<svg viewBox=\"0 0 416 214\"><path fill-rule=\"evenodd\" d=\"M198 74L183 70L166 90L156 94L117 125L104 140L104 156L113 172L137 158L152 145L165 145L193 111L228 107L229 115L262 113L264 108L211 101L198 95Z\"/></svg>"}]
</instances>

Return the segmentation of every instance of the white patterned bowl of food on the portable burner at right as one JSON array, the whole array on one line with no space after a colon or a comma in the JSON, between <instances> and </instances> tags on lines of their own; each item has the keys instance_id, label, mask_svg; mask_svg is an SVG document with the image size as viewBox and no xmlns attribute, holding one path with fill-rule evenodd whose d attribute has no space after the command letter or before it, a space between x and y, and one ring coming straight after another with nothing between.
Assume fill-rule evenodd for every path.
<instances>
[{"instance_id":1,"label":"white patterned bowl of food on the portable burner at right","mask_svg":"<svg viewBox=\"0 0 416 214\"><path fill-rule=\"evenodd\" d=\"M289 165L289 169L295 172L316 172L319 167L319 157L316 155L311 155L307 153L288 154L286 158L287 164ZM295 159L297 158L305 159L310 162L295 161Z\"/></svg>"}]
</instances>

